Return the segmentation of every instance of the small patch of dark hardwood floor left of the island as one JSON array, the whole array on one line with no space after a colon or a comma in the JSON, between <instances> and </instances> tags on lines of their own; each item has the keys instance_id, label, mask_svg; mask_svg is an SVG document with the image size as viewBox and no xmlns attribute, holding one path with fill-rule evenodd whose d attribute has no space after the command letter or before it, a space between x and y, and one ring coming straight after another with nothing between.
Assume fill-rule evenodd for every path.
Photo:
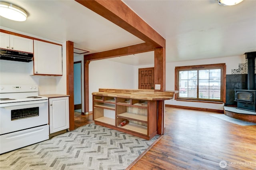
<instances>
[{"instance_id":1,"label":"small patch of dark hardwood floor left of the island","mask_svg":"<svg viewBox=\"0 0 256 170\"><path fill-rule=\"evenodd\" d=\"M94 121L92 120L92 114L81 115L81 113L79 112L74 112L75 129L93 122Z\"/></svg>"}]
</instances>

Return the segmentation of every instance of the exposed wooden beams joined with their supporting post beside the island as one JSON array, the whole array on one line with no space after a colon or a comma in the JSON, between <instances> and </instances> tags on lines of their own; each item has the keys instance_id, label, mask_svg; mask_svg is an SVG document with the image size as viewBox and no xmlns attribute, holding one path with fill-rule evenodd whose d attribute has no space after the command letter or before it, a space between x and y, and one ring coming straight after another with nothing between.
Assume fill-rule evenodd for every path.
<instances>
[{"instance_id":1,"label":"exposed wooden beams joined with their supporting post beside the island","mask_svg":"<svg viewBox=\"0 0 256 170\"><path fill-rule=\"evenodd\" d=\"M84 55L84 61L106 59L111 57L118 57L123 55L130 55L134 53L142 53L154 50L154 84L160 84L161 89L158 91L165 91L165 39L160 34L158 34L153 28L151 28L146 22L144 22L142 18L140 18L121 0L76 1L145 42L138 45L131 45L129 47L123 47L109 51ZM164 101L162 101L162 103L158 103L158 105L162 106L158 108L158 116L160 116L160 118L158 118L158 134L164 134Z\"/></svg>"}]
</instances>

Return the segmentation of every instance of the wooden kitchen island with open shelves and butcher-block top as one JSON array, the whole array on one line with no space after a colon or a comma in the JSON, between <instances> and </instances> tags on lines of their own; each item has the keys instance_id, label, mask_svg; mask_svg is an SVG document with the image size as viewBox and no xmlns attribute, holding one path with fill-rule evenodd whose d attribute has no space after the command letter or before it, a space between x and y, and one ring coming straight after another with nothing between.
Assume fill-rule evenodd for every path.
<instances>
[{"instance_id":1,"label":"wooden kitchen island with open shelves and butcher-block top","mask_svg":"<svg viewBox=\"0 0 256 170\"><path fill-rule=\"evenodd\" d=\"M99 89L92 93L93 120L96 125L150 140L158 134L158 101L173 99L174 93L177 91ZM119 127L122 121L129 123Z\"/></svg>"}]
</instances>

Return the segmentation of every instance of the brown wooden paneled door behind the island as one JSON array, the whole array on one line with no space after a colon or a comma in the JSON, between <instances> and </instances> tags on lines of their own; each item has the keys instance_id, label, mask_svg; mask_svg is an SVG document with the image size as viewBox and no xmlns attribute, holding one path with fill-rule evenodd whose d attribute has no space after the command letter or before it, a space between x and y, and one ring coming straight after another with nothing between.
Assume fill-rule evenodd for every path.
<instances>
[{"instance_id":1,"label":"brown wooden paneled door behind the island","mask_svg":"<svg viewBox=\"0 0 256 170\"><path fill-rule=\"evenodd\" d=\"M139 69L139 89L154 89L154 67Z\"/></svg>"}]
</instances>

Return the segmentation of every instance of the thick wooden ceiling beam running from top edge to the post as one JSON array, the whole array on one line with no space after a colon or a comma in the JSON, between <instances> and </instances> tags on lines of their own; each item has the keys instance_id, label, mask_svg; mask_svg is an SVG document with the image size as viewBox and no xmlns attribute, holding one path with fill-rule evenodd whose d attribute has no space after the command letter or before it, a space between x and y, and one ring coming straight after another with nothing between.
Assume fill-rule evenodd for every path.
<instances>
[{"instance_id":1,"label":"thick wooden ceiling beam running from top edge to the post","mask_svg":"<svg viewBox=\"0 0 256 170\"><path fill-rule=\"evenodd\" d=\"M86 8L120 26L155 48L165 47L165 39L121 0L76 0Z\"/></svg>"}]
</instances>

